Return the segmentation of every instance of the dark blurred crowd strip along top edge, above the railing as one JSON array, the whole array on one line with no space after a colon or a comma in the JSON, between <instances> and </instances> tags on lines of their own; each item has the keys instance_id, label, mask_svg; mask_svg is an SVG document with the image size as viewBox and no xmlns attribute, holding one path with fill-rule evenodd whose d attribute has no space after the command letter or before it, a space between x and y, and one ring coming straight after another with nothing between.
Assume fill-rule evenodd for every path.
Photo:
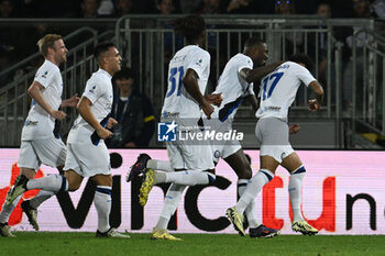
<instances>
[{"instance_id":1,"label":"dark blurred crowd strip along top edge, above the railing","mask_svg":"<svg viewBox=\"0 0 385 256\"><path fill-rule=\"evenodd\" d=\"M277 10L276 3L286 2L294 3L296 8ZM356 16L353 9L365 2L371 9L366 15L384 14L378 13L383 0L1 0L0 18L119 18L154 13L314 14L321 3L330 5L333 18L352 18Z\"/></svg>"}]
</instances>

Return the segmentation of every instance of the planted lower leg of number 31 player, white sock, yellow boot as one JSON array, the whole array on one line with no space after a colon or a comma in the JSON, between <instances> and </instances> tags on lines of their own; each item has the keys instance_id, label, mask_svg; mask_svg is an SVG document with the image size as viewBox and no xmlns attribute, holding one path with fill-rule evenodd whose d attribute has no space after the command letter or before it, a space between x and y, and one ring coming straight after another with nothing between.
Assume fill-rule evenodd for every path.
<instances>
[{"instance_id":1,"label":"planted lower leg of number 31 player, white sock, yellow boot","mask_svg":"<svg viewBox=\"0 0 385 256\"><path fill-rule=\"evenodd\" d=\"M186 186L180 186L175 183L172 183L172 186L168 188L161 216L157 220L157 223L151 234L152 240L180 241L180 238L177 238L168 234L167 225L168 225L169 219L172 218L172 215L174 214L174 212L176 211L179 204L179 201L182 199L182 194Z\"/></svg>"}]
</instances>

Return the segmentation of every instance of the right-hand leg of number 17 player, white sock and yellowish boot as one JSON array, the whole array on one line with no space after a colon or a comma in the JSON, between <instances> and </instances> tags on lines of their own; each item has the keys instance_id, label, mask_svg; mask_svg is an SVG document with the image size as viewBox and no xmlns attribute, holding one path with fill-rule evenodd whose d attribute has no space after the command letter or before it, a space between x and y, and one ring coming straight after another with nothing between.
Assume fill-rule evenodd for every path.
<instances>
[{"instance_id":1,"label":"right-hand leg of number 17 player, white sock and yellowish boot","mask_svg":"<svg viewBox=\"0 0 385 256\"><path fill-rule=\"evenodd\" d=\"M315 235L318 230L308 224L302 216L301 205L301 191L302 191L302 179L306 174L306 169L302 162L299 159L297 153L293 152L280 164L290 172L290 181L288 186L288 192L293 210L293 223L292 229L302 234Z\"/></svg>"}]
</instances>

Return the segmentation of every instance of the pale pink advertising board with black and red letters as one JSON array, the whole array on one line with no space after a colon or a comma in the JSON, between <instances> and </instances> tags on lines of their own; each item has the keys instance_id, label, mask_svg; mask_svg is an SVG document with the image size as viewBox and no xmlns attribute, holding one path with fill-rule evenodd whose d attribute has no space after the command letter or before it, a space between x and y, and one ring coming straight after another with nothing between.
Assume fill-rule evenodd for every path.
<instances>
[{"instance_id":1,"label":"pale pink advertising board with black and red letters","mask_svg":"<svg viewBox=\"0 0 385 256\"><path fill-rule=\"evenodd\" d=\"M167 160L165 149L145 151L152 158ZM150 232L163 205L167 185L154 187L143 209L139 204L140 179L125 182L125 174L143 149L111 149L122 157L113 160L111 225L120 231ZM245 151L252 157L254 172L258 168L258 152ZM118 155L117 155L118 154ZM302 212L320 234L384 234L385 233L385 157L384 152L299 151L307 169L304 178ZM0 149L0 203L2 205L11 177L18 169L12 165L19 149ZM42 166L38 176L56 174ZM234 233L224 216L226 209L235 204L237 176L220 162L215 186L188 188L169 229L177 233ZM290 204L287 192L289 175L283 168L256 198L257 216L270 227L293 234ZM96 231L97 212L92 204L95 185L87 179L73 193L62 193L44 202L38 209L42 231ZM24 198L33 197L29 191ZM20 204L19 204L20 207ZM13 212L10 225L14 230L31 231L21 209Z\"/></svg>"}]
</instances>

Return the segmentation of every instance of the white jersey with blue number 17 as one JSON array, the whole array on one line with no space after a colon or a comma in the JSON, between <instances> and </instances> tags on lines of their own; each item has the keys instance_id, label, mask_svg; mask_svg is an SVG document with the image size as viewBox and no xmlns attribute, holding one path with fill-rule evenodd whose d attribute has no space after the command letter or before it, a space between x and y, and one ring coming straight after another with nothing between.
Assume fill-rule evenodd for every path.
<instances>
[{"instance_id":1,"label":"white jersey with blue number 17","mask_svg":"<svg viewBox=\"0 0 385 256\"><path fill-rule=\"evenodd\" d=\"M278 118L287 121L288 108L296 98L301 82L306 86L316 78L308 69L297 63L286 62L261 80L260 109L255 116Z\"/></svg>"}]
</instances>

